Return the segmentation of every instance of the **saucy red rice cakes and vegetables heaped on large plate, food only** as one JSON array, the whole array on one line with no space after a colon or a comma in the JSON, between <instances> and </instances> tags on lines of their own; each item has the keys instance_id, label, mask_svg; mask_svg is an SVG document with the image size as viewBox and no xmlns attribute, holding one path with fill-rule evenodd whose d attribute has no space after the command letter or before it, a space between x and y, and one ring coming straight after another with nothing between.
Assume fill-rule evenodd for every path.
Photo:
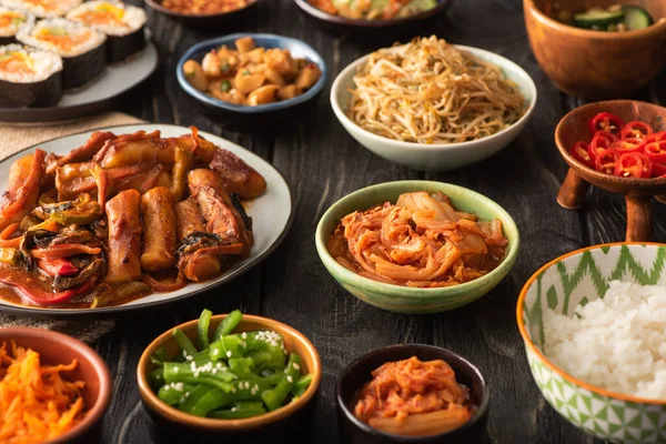
<instances>
[{"instance_id":1,"label":"saucy red rice cakes and vegetables heaped on large plate, food only","mask_svg":"<svg viewBox=\"0 0 666 444\"><path fill-rule=\"evenodd\" d=\"M0 297L118 305L210 280L254 243L241 199L265 180L198 134L95 132L65 155L11 165L0 198Z\"/></svg>"}]
</instances>

